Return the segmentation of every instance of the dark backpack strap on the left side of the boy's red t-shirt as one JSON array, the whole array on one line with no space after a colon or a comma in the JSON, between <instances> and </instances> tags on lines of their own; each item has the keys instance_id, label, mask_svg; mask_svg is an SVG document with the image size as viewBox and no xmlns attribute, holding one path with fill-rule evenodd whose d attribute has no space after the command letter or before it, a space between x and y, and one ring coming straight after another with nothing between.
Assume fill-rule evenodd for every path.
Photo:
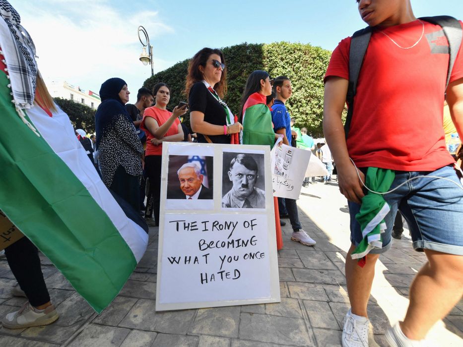
<instances>
[{"instance_id":1,"label":"dark backpack strap on the left side of the boy's red t-shirt","mask_svg":"<svg viewBox=\"0 0 463 347\"><path fill-rule=\"evenodd\" d=\"M354 112L354 97L357 93L358 75L360 73L360 68L362 67L365 52L367 51L368 43L370 42L371 31L372 29L369 26L358 30L352 35L352 39L350 41L349 86L347 88L346 96L346 101L349 105L349 108L347 109L347 117L344 124L344 132L346 138L349 134L350 122Z\"/></svg>"}]
</instances>

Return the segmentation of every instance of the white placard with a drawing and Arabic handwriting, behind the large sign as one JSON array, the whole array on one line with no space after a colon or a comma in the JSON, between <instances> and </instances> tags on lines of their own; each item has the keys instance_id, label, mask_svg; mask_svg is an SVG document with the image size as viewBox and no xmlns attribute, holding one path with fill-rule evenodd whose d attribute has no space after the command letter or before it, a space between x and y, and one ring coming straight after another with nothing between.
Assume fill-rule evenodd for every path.
<instances>
[{"instance_id":1,"label":"white placard with a drawing and Arabic handwriting, behind the large sign","mask_svg":"<svg viewBox=\"0 0 463 347\"><path fill-rule=\"evenodd\" d=\"M274 196L299 199L311 154L311 151L284 144L273 147L271 169Z\"/></svg>"}]
</instances>

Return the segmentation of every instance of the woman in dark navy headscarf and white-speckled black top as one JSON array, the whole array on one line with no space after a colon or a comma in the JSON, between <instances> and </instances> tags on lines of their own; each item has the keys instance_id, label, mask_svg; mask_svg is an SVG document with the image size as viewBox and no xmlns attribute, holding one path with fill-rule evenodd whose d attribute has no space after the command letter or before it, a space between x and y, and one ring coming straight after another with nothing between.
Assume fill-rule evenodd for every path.
<instances>
[{"instance_id":1,"label":"woman in dark navy headscarf and white-speckled black top","mask_svg":"<svg viewBox=\"0 0 463 347\"><path fill-rule=\"evenodd\" d=\"M121 78L110 78L101 85L102 103L95 114L96 146L103 182L138 212L143 146L124 107L129 94Z\"/></svg>"}]
</instances>

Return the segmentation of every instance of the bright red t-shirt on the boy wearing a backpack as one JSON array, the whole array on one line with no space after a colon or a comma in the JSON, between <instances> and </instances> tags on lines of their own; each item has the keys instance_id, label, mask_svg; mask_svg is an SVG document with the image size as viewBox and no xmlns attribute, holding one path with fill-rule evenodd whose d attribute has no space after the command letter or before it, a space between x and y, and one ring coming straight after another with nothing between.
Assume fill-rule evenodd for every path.
<instances>
[{"instance_id":1,"label":"bright red t-shirt on the boy wearing a backpack","mask_svg":"<svg viewBox=\"0 0 463 347\"><path fill-rule=\"evenodd\" d=\"M358 167L434 171L454 162L445 146L442 121L449 46L439 25L423 23L424 35L411 49L401 49L373 30L347 138L349 156ZM409 47L422 29L415 20L382 31L401 47ZM350 40L342 40L333 51L325 81L329 76L349 79ZM463 77L462 51L463 44L451 82Z\"/></svg>"}]
</instances>

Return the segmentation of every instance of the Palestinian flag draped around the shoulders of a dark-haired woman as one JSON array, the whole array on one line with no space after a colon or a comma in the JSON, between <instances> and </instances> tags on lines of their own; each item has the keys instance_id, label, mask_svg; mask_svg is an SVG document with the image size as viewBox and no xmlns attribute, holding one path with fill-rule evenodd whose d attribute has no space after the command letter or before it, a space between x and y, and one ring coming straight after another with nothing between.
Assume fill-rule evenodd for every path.
<instances>
[{"instance_id":1,"label":"Palestinian flag draped around the shoulders of a dark-haired woman","mask_svg":"<svg viewBox=\"0 0 463 347\"><path fill-rule=\"evenodd\" d=\"M275 133L266 98L260 93L251 94L243 106L242 144L268 145L275 143Z\"/></svg>"}]
</instances>

